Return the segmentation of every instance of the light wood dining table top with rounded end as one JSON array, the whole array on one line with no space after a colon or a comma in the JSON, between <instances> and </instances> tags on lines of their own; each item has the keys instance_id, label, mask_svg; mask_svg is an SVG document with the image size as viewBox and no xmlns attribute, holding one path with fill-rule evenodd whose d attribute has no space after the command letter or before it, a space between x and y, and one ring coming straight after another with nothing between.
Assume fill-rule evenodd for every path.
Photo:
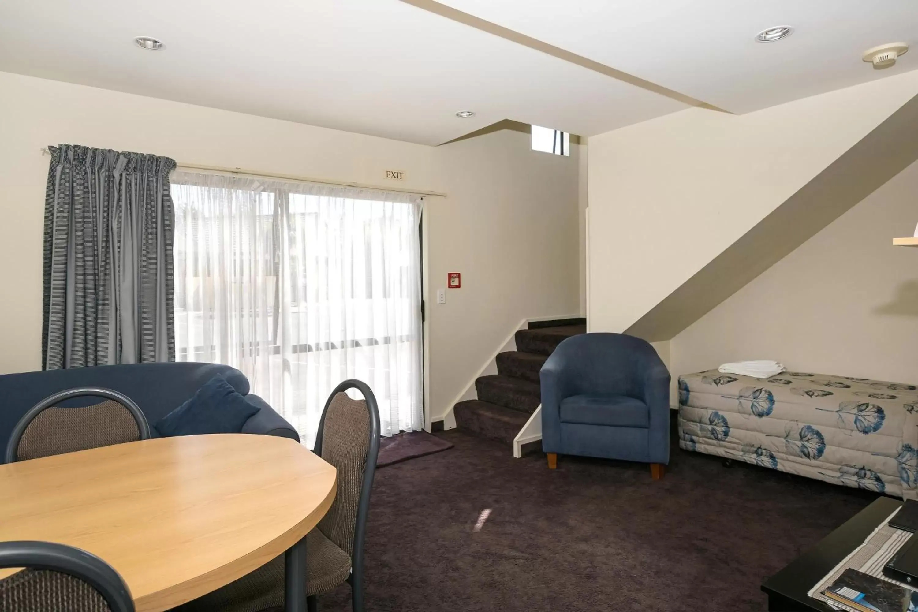
<instances>
[{"instance_id":1,"label":"light wood dining table top with rounded end","mask_svg":"<svg viewBox=\"0 0 918 612\"><path fill-rule=\"evenodd\" d=\"M141 440L0 465L0 541L92 552L121 574L138 612L156 612L271 561L334 496L334 467L294 440Z\"/></svg>"}]
</instances>

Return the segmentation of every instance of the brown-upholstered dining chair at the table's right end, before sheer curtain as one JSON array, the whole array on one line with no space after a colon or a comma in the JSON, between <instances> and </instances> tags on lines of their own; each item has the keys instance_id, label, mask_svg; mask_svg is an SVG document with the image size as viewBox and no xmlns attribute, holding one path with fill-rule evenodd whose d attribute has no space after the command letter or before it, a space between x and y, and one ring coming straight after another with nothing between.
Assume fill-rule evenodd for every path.
<instances>
[{"instance_id":1,"label":"brown-upholstered dining chair at the table's right end, before sheer curtain","mask_svg":"<svg viewBox=\"0 0 918 612\"><path fill-rule=\"evenodd\" d=\"M364 396L353 400L345 392ZM347 380L331 392L314 451L337 470L337 492L328 513L306 537L306 593L309 612L316 595L351 584L354 612L364 610L364 540L370 493L379 455L379 409L369 386ZM284 606L284 555L226 586L174 608L175 612L220 610L263 612Z\"/></svg>"}]
</instances>

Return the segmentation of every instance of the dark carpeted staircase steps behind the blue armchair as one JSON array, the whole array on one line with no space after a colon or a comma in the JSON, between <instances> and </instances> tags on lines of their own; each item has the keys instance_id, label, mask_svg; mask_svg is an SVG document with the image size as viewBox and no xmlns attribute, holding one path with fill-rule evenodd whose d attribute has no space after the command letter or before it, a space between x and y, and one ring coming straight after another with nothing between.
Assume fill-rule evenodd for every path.
<instances>
[{"instance_id":1,"label":"dark carpeted staircase steps behind the blue armchair","mask_svg":"<svg viewBox=\"0 0 918 612\"><path fill-rule=\"evenodd\" d=\"M587 332L587 319L538 321L516 332L516 351L498 354L498 373L475 382L477 399L453 408L456 428L513 443L542 403L539 371L562 340Z\"/></svg>"}]
</instances>

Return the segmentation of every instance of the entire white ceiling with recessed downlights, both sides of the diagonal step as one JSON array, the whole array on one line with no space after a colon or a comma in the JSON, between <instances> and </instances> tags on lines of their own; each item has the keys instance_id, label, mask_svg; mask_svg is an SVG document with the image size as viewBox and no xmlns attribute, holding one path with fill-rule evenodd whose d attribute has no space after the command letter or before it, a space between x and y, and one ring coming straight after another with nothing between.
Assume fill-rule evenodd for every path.
<instances>
[{"instance_id":1,"label":"entire white ceiling with recessed downlights, both sides of the diagonal step","mask_svg":"<svg viewBox=\"0 0 918 612\"><path fill-rule=\"evenodd\" d=\"M918 50L860 61L918 42L914 0L444 4L733 112L918 67ZM789 39L753 40L784 23ZM398 0L3 2L0 71L426 144L505 118L592 136L686 107Z\"/></svg>"}]
</instances>

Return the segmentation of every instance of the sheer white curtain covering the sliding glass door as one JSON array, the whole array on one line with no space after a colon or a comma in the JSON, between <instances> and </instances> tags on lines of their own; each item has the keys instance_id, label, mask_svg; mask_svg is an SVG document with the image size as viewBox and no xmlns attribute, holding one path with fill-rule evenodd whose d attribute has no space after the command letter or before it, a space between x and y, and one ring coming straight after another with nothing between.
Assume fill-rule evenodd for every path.
<instances>
[{"instance_id":1,"label":"sheer white curtain covering the sliding glass door","mask_svg":"<svg viewBox=\"0 0 918 612\"><path fill-rule=\"evenodd\" d=\"M239 368L312 446L357 378L384 435L420 429L420 198L176 171L177 361Z\"/></svg>"}]
</instances>

